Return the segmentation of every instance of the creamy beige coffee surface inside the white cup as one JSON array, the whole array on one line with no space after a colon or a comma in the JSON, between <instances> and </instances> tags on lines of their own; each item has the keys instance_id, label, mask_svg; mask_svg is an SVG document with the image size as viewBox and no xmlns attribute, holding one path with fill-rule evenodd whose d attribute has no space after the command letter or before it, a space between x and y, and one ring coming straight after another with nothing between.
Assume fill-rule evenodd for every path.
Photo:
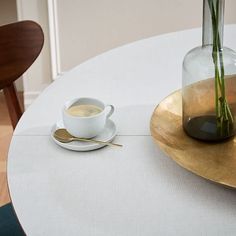
<instances>
[{"instance_id":1,"label":"creamy beige coffee surface inside the white cup","mask_svg":"<svg viewBox=\"0 0 236 236\"><path fill-rule=\"evenodd\" d=\"M66 112L72 116L90 117L102 112L102 109L95 105L85 104L71 106Z\"/></svg>"}]
</instances>

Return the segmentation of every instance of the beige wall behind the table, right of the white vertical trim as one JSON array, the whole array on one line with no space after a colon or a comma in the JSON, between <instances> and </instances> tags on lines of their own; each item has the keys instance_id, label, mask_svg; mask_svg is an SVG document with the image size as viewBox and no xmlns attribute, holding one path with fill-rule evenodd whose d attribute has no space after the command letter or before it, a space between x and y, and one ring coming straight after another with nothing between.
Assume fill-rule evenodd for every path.
<instances>
[{"instance_id":1,"label":"beige wall behind the table, right of the white vertical trim","mask_svg":"<svg viewBox=\"0 0 236 236\"><path fill-rule=\"evenodd\" d=\"M57 0L57 4L62 71L111 48L202 23L202 0ZM236 23L235 12L236 1L226 0L226 23Z\"/></svg>"}]
</instances>

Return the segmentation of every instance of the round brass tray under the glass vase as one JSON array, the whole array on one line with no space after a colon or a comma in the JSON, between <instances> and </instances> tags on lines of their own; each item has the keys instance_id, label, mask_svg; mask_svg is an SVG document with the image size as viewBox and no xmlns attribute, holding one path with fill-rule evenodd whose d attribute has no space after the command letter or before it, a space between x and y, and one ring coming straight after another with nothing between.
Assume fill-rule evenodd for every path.
<instances>
[{"instance_id":1,"label":"round brass tray under the glass vase","mask_svg":"<svg viewBox=\"0 0 236 236\"><path fill-rule=\"evenodd\" d=\"M181 90L156 107L150 129L159 147L180 166L208 180L236 188L236 138L205 143L187 136L182 128Z\"/></svg>"}]
</instances>

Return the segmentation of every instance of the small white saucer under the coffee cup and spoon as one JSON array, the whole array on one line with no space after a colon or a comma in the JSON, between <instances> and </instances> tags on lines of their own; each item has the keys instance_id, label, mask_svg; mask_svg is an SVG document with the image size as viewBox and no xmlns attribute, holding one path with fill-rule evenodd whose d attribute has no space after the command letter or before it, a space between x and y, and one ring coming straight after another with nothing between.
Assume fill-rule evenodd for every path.
<instances>
[{"instance_id":1,"label":"small white saucer under the coffee cup and spoon","mask_svg":"<svg viewBox=\"0 0 236 236\"><path fill-rule=\"evenodd\" d=\"M61 143L58 140L56 140L53 136L53 133L57 129L65 128L63 121L60 120L58 121L51 130L51 138L52 140L58 144L59 146L73 150L73 151L91 151L95 149L102 148L106 146L105 144L98 144L98 143L93 143L93 142L80 142L80 141L72 141L70 143ZM112 120L107 120L106 126L104 130L99 134L98 136L94 137L94 139L104 141L104 142L110 142L112 141L116 136L116 125Z\"/></svg>"}]
</instances>

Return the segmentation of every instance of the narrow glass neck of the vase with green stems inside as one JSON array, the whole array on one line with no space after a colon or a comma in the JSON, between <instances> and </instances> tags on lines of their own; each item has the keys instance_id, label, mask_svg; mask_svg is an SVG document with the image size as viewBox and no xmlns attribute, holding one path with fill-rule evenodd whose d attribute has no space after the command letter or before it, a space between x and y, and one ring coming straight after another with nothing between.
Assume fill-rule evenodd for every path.
<instances>
[{"instance_id":1,"label":"narrow glass neck of the vase with green stems inside","mask_svg":"<svg viewBox=\"0 0 236 236\"><path fill-rule=\"evenodd\" d=\"M218 35L223 47L225 0L203 0L202 45L212 45Z\"/></svg>"}]
</instances>

